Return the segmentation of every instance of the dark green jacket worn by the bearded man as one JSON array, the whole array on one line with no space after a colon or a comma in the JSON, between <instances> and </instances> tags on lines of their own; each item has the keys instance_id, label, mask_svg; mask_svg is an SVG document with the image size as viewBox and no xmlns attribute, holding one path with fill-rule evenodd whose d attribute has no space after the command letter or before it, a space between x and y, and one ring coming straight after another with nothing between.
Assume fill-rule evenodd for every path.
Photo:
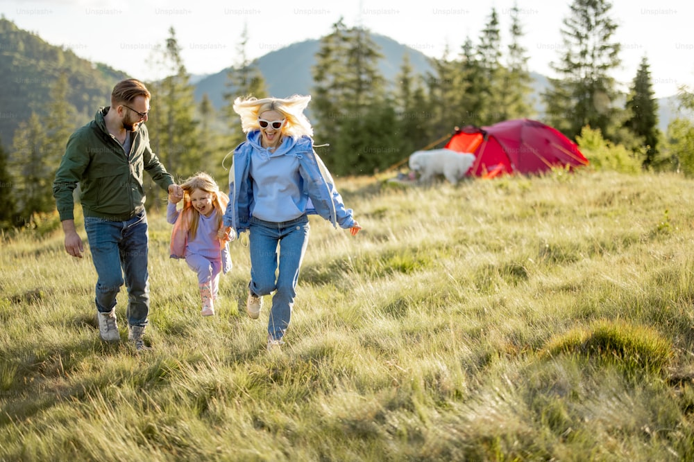
<instances>
[{"instance_id":1,"label":"dark green jacket worn by the bearded man","mask_svg":"<svg viewBox=\"0 0 694 462\"><path fill-rule=\"evenodd\" d=\"M149 147L149 133L142 124L132 133L130 156L106 130L108 107L79 128L67 141L65 154L53 181L60 221L74 220L73 191L80 184L85 217L125 221L144 210L142 172L146 170L164 189L174 179Z\"/></svg>"}]
</instances>

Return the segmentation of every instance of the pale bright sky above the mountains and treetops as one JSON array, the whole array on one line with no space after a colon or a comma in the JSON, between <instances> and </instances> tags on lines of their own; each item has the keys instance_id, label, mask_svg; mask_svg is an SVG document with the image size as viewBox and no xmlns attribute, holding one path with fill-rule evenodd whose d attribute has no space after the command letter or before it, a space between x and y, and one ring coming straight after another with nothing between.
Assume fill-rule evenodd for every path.
<instances>
[{"instance_id":1,"label":"pale bright sky above the mountains and treetops","mask_svg":"<svg viewBox=\"0 0 694 462\"><path fill-rule=\"evenodd\" d=\"M448 49L449 57L457 57L468 37L479 43L492 8L507 47L516 2L530 71L556 77L550 64L559 62L565 49L561 27L570 0L0 0L0 14L49 44L131 77L155 80L164 72L153 64L153 51L165 44L171 27L192 74L239 64L244 28L246 55L254 59L319 39L340 18L348 27L363 26L425 55L440 58ZM611 73L620 89L631 85L643 57L658 98L677 94L681 85L694 88L694 1L613 0L610 17L618 25L614 42L622 44L622 64Z\"/></svg>"}]
</instances>

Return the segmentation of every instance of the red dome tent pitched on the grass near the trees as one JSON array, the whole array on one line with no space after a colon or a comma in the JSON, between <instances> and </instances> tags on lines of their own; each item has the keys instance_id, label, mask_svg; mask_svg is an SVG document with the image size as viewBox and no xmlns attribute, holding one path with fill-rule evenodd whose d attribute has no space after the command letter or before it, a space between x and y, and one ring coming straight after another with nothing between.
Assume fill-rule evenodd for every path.
<instances>
[{"instance_id":1,"label":"red dome tent pitched on the grass near the trees","mask_svg":"<svg viewBox=\"0 0 694 462\"><path fill-rule=\"evenodd\" d=\"M539 173L553 167L575 168L588 159L559 130L518 118L489 127L468 125L451 136L444 148L475 154L466 175L495 177L502 173Z\"/></svg>"}]
</instances>

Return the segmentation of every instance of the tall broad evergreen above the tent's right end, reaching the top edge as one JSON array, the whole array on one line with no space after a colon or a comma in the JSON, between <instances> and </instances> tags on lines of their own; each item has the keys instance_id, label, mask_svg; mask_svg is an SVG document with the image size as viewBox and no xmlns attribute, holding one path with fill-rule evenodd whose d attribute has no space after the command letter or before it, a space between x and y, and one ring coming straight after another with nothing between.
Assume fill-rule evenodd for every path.
<instances>
[{"instance_id":1,"label":"tall broad evergreen above the tent's right end, reaching the top edge","mask_svg":"<svg viewBox=\"0 0 694 462\"><path fill-rule=\"evenodd\" d=\"M613 106L617 94L609 73L620 64L620 44L612 42L617 25L609 17L611 8L607 0L573 0L563 21L564 55L551 64L561 77L549 79L543 98L548 122L570 139L586 125L606 139L616 138L614 121L621 114Z\"/></svg>"}]
</instances>

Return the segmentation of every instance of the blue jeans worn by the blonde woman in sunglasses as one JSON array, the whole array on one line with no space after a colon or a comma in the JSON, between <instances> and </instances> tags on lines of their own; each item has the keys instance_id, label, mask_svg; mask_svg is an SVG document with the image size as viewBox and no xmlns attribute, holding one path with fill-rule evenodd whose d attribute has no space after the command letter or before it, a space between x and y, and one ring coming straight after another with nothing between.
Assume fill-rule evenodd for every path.
<instances>
[{"instance_id":1,"label":"blue jeans worn by the blonde woman in sunglasses","mask_svg":"<svg viewBox=\"0 0 694 462\"><path fill-rule=\"evenodd\" d=\"M251 283L258 296L275 294L267 325L273 339L281 339L291 319L301 260L306 251L309 222L306 215L289 222L266 222L251 217L249 247Z\"/></svg>"}]
</instances>

